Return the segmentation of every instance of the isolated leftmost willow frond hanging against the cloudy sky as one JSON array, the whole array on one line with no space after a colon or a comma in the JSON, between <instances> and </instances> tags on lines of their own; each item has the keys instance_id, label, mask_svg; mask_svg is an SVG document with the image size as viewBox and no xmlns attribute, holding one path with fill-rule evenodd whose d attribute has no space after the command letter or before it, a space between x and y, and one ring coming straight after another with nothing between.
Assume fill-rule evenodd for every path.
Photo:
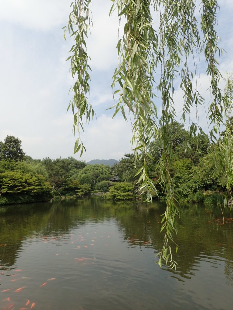
<instances>
[{"instance_id":1,"label":"isolated leftmost willow frond hanging against the cloudy sky","mask_svg":"<svg viewBox=\"0 0 233 310\"><path fill-rule=\"evenodd\" d=\"M80 139L80 128L84 131L83 117L86 118L86 122L89 122L90 118L94 117L94 110L87 98L90 91L89 71L91 71L91 68L89 66L90 57L87 54L85 42L85 38L88 37L89 27L92 26L91 12L89 9L90 4L91 0L75 0L72 2L69 21L67 26L64 27L64 38L66 39L66 32L68 30L71 38L75 41L75 44L70 50L72 55L66 59L71 62L71 75L76 80L70 89L73 92L73 97L70 100L67 111L71 107L74 114L73 132L75 133L76 129L79 134L75 142L74 153L80 151L80 157L83 151L86 152L85 146Z\"/></svg>"}]
</instances>

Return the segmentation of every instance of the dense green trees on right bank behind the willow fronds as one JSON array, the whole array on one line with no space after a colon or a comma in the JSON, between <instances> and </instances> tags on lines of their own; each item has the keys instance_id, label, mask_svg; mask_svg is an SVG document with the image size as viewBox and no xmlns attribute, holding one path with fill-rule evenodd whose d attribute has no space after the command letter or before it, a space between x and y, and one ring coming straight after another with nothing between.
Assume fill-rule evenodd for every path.
<instances>
[{"instance_id":1,"label":"dense green trees on right bank behind the willow fronds","mask_svg":"<svg viewBox=\"0 0 233 310\"><path fill-rule=\"evenodd\" d=\"M190 139L191 148L185 151L185 138L189 131L178 122L168 124L167 131L171 137L173 160L168 167L173 186L176 190L176 200L183 202L204 202L214 201L217 203L228 197L226 186L222 178L224 173L216 170L215 148L210 143L207 135L197 135ZM154 184L157 185L160 199L164 198L163 188L159 183L158 162L162 154L162 140L156 138L149 145L150 153L154 160L148 162L148 174L152 176ZM140 165L140 163L137 163ZM120 181L138 181L135 176L138 167L135 168L133 154L126 154L118 164L112 166L112 175L117 174ZM203 194L203 190L206 191ZM210 196L212 198L210 198ZM154 196L157 199L157 196Z\"/></svg>"}]
</instances>

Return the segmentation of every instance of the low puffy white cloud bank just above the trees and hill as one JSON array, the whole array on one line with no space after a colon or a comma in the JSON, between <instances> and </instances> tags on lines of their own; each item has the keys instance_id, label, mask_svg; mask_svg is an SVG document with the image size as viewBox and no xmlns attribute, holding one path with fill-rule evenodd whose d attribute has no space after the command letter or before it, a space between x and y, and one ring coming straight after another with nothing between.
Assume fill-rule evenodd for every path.
<instances>
[{"instance_id":1,"label":"low puffy white cloud bank just above the trees and hill","mask_svg":"<svg viewBox=\"0 0 233 310\"><path fill-rule=\"evenodd\" d=\"M116 117L112 120L107 115L101 115L98 122L92 121L85 126L85 133L81 133L81 139L87 150L87 154L79 157L79 154L73 155L74 144L77 135L71 133L72 116L66 115L52 121L53 131L48 131L46 139L41 132L28 132L20 135L22 140L22 148L33 158L57 158L73 156L78 160L90 161L91 159L120 159L125 153L131 152L130 138L131 127L123 118ZM1 133L5 138L6 135L15 135L13 131ZM16 135L15 135L16 136ZM4 139L2 138L2 140Z\"/></svg>"}]
</instances>

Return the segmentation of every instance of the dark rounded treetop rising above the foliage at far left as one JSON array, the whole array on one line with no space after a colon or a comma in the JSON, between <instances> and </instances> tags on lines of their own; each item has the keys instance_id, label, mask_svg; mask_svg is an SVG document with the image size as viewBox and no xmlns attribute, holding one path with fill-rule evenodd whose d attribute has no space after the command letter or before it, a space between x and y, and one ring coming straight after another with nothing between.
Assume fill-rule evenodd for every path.
<instances>
[{"instance_id":1,"label":"dark rounded treetop rising above the foliage at far left","mask_svg":"<svg viewBox=\"0 0 233 310\"><path fill-rule=\"evenodd\" d=\"M4 142L0 141L0 160L11 159L15 162L23 161L25 153L21 148L21 140L14 136L7 136Z\"/></svg>"}]
</instances>

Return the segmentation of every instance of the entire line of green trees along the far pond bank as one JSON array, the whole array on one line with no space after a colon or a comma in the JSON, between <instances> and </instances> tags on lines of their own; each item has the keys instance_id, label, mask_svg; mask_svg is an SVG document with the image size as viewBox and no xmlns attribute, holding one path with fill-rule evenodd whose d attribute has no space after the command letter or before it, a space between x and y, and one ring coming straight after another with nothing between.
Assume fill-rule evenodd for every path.
<instances>
[{"instance_id":1,"label":"entire line of green trees along the far pond bank","mask_svg":"<svg viewBox=\"0 0 233 310\"><path fill-rule=\"evenodd\" d=\"M227 122L233 128L233 117ZM215 147L210 143L209 137L197 135L190 138L189 131L179 122L168 124L167 131L174 155L169 173L176 189L176 199L211 204L224 199L227 195L225 174L221 168L216 169ZM219 139L224 135L225 131ZM148 174L157 187L160 198L164 198L158 170L162 148L158 132L149 144L151 158L148 162ZM0 205L47 201L54 196L83 196L90 192L107 193L107 199L133 199L140 186L139 176L136 174L141 164L140 161L135 162L134 155L130 153L125 154L112 167L87 165L85 161L73 157L33 159L23 152L21 140L7 136L4 142L0 141ZM118 181L112 183L109 179L115 175L118 176ZM214 193L204 195L203 190Z\"/></svg>"}]
</instances>

